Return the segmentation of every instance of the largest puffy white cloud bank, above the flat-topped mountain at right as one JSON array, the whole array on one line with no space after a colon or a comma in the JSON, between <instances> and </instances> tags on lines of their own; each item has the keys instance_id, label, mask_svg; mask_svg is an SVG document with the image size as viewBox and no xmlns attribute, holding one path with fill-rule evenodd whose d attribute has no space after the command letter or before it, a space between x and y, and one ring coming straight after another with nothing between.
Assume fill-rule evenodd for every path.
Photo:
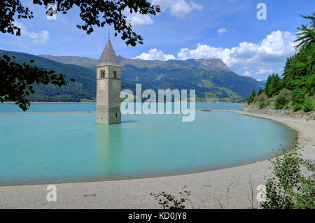
<instances>
[{"instance_id":1,"label":"largest puffy white cloud bank, above the flat-topped mountain at right","mask_svg":"<svg viewBox=\"0 0 315 223\"><path fill-rule=\"evenodd\" d=\"M278 30L272 31L260 43L242 42L234 48L198 44L196 49L182 48L177 55L181 60L221 58L231 69L254 69L256 72L252 73L267 74L272 73L271 68L275 66L284 66L286 57L294 52L294 39L290 32Z\"/></svg>"}]
</instances>

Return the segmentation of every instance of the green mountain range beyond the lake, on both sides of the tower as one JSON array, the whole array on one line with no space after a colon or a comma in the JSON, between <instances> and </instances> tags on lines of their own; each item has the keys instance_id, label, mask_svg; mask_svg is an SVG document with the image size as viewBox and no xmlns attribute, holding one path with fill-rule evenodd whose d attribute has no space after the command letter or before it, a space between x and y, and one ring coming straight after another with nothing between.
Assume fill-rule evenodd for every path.
<instances>
[{"instance_id":1,"label":"green mountain range beyond the lake, on both sides of the tower","mask_svg":"<svg viewBox=\"0 0 315 223\"><path fill-rule=\"evenodd\" d=\"M96 94L96 65L98 60L88 57L29 55L0 50L1 55L15 56L19 63L34 59L34 66L65 73L76 82L56 87L36 85L31 101L94 100ZM142 89L195 89L197 101L244 101L253 89L265 86L253 78L231 71L221 59L188 59L186 61L127 59L118 56L122 66L122 87L132 89L141 83Z\"/></svg>"}]
</instances>

